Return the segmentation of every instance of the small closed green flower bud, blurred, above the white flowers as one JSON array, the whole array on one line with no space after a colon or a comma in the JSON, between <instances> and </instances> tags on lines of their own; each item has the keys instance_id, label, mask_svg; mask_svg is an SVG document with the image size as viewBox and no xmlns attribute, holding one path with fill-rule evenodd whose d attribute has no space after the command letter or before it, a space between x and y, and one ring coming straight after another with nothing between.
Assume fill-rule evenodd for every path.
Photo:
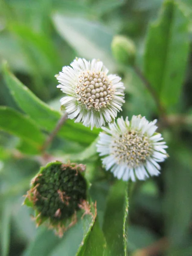
<instances>
[{"instance_id":1,"label":"small closed green flower bud, blurred, above the white flowers","mask_svg":"<svg viewBox=\"0 0 192 256\"><path fill-rule=\"evenodd\" d=\"M133 65L135 61L136 47L134 42L122 35L113 38L111 49L116 60L125 65Z\"/></svg>"}]
</instances>

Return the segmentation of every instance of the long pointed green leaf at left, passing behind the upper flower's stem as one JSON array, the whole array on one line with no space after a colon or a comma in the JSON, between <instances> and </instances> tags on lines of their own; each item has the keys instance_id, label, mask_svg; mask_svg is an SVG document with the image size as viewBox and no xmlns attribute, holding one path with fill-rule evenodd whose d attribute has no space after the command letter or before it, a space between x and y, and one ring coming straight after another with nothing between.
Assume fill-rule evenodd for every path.
<instances>
[{"instance_id":1,"label":"long pointed green leaf at left, passing behind the upper flower's stem","mask_svg":"<svg viewBox=\"0 0 192 256\"><path fill-rule=\"evenodd\" d=\"M53 110L47 104L36 97L25 85L23 85L7 67L4 67L4 74L7 86L15 99L17 105L27 113L41 128L46 131L52 131L59 119L61 113ZM74 123L73 120L67 120L62 126L58 135L82 144L90 144L97 137L99 130L84 127L81 123Z\"/></svg>"}]
</instances>

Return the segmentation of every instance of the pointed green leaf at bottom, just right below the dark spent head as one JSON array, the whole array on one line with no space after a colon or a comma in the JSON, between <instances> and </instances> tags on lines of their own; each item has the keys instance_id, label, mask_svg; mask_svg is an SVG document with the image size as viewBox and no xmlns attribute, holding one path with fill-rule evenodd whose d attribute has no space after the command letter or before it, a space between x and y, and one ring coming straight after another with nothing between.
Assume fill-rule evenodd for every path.
<instances>
[{"instance_id":1,"label":"pointed green leaf at bottom, just right below the dark spent head","mask_svg":"<svg viewBox=\"0 0 192 256\"><path fill-rule=\"evenodd\" d=\"M99 227L98 219L96 219L93 225L90 225L90 230L76 256L102 256L105 250L105 245L105 237Z\"/></svg>"}]
</instances>

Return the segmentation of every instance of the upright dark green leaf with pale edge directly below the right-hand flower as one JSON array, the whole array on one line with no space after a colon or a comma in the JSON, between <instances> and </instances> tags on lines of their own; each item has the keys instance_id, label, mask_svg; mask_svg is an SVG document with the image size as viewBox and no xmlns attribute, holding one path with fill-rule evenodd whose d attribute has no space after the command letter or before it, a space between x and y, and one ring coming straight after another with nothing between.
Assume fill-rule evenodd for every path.
<instances>
[{"instance_id":1,"label":"upright dark green leaf with pale edge directly below the right-hand flower","mask_svg":"<svg viewBox=\"0 0 192 256\"><path fill-rule=\"evenodd\" d=\"M103 232L107 242L105 256L127 255L125 231L127 215L128 185L122 180L117 180L109 192L103 221Z\"/></svg>"}]
</instances>

